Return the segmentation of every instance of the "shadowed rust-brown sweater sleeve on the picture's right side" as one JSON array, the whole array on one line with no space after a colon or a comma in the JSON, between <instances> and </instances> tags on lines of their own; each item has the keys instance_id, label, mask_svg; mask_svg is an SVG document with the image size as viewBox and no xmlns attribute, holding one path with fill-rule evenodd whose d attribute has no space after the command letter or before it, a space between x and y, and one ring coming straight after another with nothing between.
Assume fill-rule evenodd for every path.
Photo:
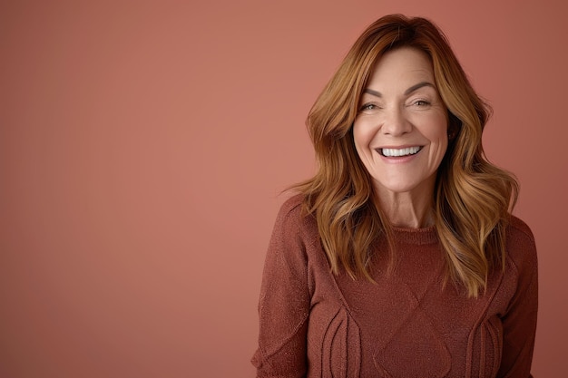
<instances>
[{"instance_id":1,"label":"shadowed rust-brown sweater sleeve on the picture's right side","mask_svg":"<svg viewBox=\"0 0 568 378\"><path fill-rule=\"evenodd\" d=\"M532 377L530 371L538 307L538 269L534 237L524 223L514 235L514 240L511 240L514 247L511 255L516 269L517 286L502 318L503 356L497 376L503 378Z\"/></svg>"}]
</instances>

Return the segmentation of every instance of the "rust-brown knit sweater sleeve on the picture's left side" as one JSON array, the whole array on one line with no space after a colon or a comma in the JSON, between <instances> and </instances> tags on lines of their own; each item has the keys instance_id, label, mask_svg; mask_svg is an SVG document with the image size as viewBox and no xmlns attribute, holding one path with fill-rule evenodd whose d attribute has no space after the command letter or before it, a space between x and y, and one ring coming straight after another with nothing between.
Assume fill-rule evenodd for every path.
<instances>
[{"instance_id":1,"label":"rust-brown knit sweater sleeve on the picture's left side","mask_svg":"<svg viewBox=\"0 0 568 378\"><path fill-rule=\"evenodd\" d=\"M258 377L300 378L307 373L308 258L299 204L279 211L260 288L259 347L252 357Z\"/></svg>"}]
</instances>

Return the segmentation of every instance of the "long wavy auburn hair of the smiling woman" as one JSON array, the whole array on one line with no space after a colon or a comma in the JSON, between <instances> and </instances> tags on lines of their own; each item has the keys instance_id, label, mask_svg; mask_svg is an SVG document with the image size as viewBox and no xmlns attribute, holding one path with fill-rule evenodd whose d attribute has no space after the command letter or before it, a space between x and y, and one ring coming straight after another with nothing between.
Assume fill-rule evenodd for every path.
<instances>
[{"instance_id":1,"label":"long wavy auburn hair of the smiling woman","mask_svg":"<svg viewBox=\"0 0 568 378\"><path fill-rule=\"evenodd\" d=\"M309 111L318 169L295 188L304 194L305 211L317 219L335 274L344 268L354 279L372 281L369 263L381 239L387 240L392 265L392 228L357 155L353 122L375 63L400 47L428 55L448 111L448 149L437 170L432 212L446 256L446 279L475 297L485 289L491 271L504 268L505 231L518 185L513 175L485 158L482 132L491 110L475 93L436 24L422 17L387 15L358 37Z\"/></svg>"}]
</instances>

